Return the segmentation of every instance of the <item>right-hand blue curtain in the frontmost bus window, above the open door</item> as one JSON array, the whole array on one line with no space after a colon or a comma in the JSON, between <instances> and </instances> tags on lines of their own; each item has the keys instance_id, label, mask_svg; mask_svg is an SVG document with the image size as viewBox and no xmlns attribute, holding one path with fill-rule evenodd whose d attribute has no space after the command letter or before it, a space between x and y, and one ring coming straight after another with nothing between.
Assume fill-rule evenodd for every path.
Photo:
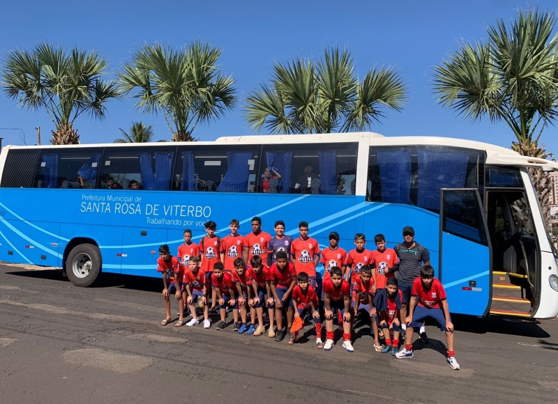
<instances>
[{"instance_id":1,"label":"right-hand blue curtain in the frontmost bus window, above the open door","mask_svg":"<svg viewBox=\"0 0 558 404\"><path fill-rule=\"evenodd\" d=\"M462 188L467 175L467 153L418 150L418 195L421 208L439 210L440 188Z\"/></svg>"}]
</instances>

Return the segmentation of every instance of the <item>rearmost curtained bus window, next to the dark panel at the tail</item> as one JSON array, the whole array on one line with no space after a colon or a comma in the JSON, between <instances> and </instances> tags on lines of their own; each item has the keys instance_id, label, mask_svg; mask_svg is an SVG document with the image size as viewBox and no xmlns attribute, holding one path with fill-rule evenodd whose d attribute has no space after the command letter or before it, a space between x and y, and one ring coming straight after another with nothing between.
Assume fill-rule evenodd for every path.
<instances>
[{"instance_id":1,"label":"rearmost curtained bus window, next to the dark panel at the tail","mask_svg":"<svg viewBox=\"0 0 558 404\"><path fill-rule=\"evenodd\" d=\"M103 148L43 148L36 164L37 188L96 188Z\"/></svg>"}]
</instances>

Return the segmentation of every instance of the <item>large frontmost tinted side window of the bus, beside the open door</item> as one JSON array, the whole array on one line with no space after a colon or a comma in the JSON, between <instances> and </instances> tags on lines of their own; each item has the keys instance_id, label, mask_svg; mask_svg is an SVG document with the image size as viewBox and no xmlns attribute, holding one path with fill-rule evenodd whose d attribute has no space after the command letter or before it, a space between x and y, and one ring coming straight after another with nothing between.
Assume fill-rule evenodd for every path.
<instances>
[{"instance_id":1,"label":"large frontmost tinted side window of the bus, beside the open door","mask_svg":"<svg viewBox=\"0 0 558 404\"><path fill-rule=\"evenodd\" d=\"M439 211L441 188L478 188L479 157L444 146L371 147L367 200Z\"/></svg>"}]
</instances>

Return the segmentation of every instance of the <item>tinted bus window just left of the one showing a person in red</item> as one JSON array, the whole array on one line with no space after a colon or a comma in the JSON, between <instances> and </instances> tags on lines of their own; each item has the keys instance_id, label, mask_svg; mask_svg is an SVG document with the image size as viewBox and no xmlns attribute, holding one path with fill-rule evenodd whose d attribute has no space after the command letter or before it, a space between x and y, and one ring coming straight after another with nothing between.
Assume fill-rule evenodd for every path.
<instances>
[{"instance_id":1,"label":"tinted bus window just left of the one showing a person in red","mask_svg":"<svg viewBox=\"0 0 558 404\"><path fill-rule=\"evenodd\" d=\"M172 189L255 192L261 152L259 145L179 146Z\"/></svg>"}]
</instances>

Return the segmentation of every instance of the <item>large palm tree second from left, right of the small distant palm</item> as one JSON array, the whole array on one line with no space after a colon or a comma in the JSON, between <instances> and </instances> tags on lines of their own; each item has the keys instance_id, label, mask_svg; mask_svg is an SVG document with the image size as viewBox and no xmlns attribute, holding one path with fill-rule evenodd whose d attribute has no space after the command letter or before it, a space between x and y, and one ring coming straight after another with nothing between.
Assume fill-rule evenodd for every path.
<instances>
[{"instance_id":1,"label":"large palm tree second from left, right of the small distant palm","mask_svg":"<svg viewBox=\"0 0 558 404\"><path fill-rule=\"evenodd\" d=\"M197 123L220 118L236 104L234 79L216 64L220 55L220 49L199 41L178 50L145 44L124 63L121 91L136 89L138 109L163 113L174 141L196 140Z\"/></svg>"}]
</instances>

